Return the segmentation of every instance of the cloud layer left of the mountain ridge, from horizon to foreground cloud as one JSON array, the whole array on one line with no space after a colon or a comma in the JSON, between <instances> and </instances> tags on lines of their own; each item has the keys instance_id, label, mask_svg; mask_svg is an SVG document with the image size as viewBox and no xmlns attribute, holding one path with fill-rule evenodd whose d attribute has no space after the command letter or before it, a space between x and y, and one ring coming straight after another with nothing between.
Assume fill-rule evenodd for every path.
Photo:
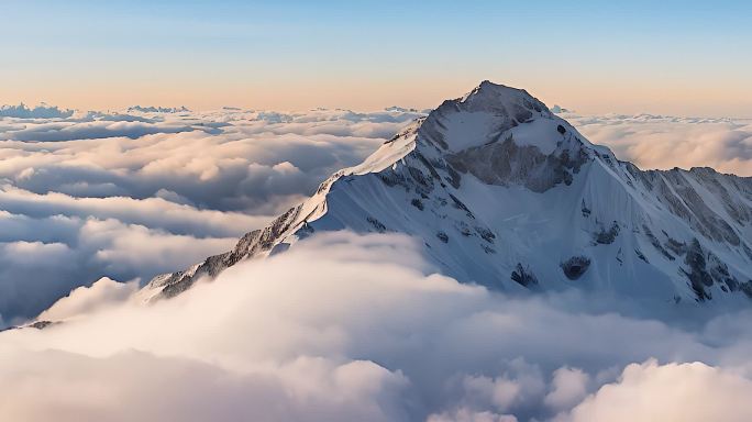
<instances>
[{"instance_id":1,"label":"cloud layer left of the mountain ridge, from horizon to foreground cloud","mask_svg":"<svg viewBox=\"0 0 752 422\"><path fill-rule=\"evenodd\" d=\"M2 110L0 327L102 276L145 281L231 248L419 115Z\"/></svg>"}]
</instances>

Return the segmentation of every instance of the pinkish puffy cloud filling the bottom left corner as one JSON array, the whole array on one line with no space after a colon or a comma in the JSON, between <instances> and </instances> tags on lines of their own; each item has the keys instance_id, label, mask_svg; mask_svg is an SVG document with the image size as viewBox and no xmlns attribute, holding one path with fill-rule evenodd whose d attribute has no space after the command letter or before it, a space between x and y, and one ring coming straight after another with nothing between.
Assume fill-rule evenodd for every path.
<instances>
[{"instance_id":1,"label":"pinkish puffy cloud filling the bottom left corner","mask_svg":"<svg viewBox=\"0 0 752 422\"><path fill-rule=\"evenodd\" d=\"M396 421L398 374L365 362L300 358L247 374L210 364L124 352L106 359L56 351L0 367L11 395L0 415L13 421ZM36 406L34 404L36 402ZM385 406L380 406L384 403Z\"/></svg>"}]
</instances>

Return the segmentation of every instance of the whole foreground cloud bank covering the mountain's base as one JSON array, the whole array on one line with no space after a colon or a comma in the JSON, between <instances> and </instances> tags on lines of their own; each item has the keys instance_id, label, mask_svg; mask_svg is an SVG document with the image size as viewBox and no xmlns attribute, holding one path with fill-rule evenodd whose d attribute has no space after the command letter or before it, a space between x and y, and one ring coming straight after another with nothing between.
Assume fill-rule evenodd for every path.
<instances>
[{"instance_id":1,"label":"whole foreground cloud bank covering the mountain's base","mask_svg":"<svg viewBox=\"0 0 752 422\"><path fill-rule=\"evenodd\" d=\"M51 309L64 323L0 334L0 419L752 415L749 312L679 327L587 306L604 298L508 298L433 274L417 242L316 235L153 306L79 289Z\"/></svg>"}]
</instances>

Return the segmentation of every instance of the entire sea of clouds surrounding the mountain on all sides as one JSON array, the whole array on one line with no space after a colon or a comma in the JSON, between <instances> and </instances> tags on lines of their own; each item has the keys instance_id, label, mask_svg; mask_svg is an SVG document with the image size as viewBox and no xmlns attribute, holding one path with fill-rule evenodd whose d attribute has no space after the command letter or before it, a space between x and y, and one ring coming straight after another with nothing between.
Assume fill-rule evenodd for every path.
<instances>
[{"instance_id":1,"label":"entire sea of clouds surrounding the mountain on all sides","mask_svg":"<svg viewBox=\"0 0 752 422\"><path fill-rule=\"evenodd\" d=\"M399 235L317 235L137 300L420 115L0 108L0 327L65 321L0 334L0 420L752 420L752 313L508 298ZM749 121L563 116L642 168L752 176Z\"/></svg>"}]
</instances>

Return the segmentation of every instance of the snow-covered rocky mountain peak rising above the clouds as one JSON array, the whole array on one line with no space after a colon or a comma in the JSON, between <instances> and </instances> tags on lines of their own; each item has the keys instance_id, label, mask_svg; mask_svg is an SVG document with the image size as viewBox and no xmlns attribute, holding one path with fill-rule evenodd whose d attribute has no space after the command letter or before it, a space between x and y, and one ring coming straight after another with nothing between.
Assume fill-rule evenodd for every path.
<instances>
[{"instance_id":1,"label":"snow-covered rocky mountain peak rising above the clouds","mask_svg":"<svg viewBox=\"0 0 752 422\"><path fill-rule=\"evenodd\" d=\"M527 91L489 81L332 175L233 251L158 276L140 295L169 298L242 259L342 229L416 236L442 273L510 292L752 297L752 178L641 170Z\"/></svg>"}]
</instances>

